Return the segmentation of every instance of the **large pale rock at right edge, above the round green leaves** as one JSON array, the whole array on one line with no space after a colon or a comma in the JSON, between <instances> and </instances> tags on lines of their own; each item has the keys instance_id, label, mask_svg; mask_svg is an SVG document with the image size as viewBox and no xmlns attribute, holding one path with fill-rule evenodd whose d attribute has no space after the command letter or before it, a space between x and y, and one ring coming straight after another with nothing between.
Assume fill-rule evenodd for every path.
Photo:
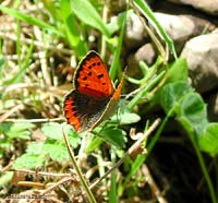
<instances>
[{"instance_id":1,"label":"large pale rock at right edge, above the round green leaves","mask_svg":"<svg viewBox=\"0 0 218 203\"><path fill-rule=\"evenodd\" d=\"M181 57L185 57L193 86L205 93L218 87L218 32L190 39Z\"/></svg>"}]
</instances>

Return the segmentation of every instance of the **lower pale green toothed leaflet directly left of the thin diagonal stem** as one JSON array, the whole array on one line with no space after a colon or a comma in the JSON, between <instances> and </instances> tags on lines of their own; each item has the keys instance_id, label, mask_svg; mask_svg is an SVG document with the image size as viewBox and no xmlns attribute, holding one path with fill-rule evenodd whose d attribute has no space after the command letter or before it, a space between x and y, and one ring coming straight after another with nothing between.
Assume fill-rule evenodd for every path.
<instances>
[{"instance_id":1,"label":"lower pale green toothed leaflet directly left of the thin diagonal stem","mask_svg":"<svg viewBox=\"0 0 218 203\"><path fill-rule=\"evenodd\" d=\"M63 144L44 144L43 151L48 154L52 160L63 162L69 159L69 152Z\"/></svg>"}]
</instances>

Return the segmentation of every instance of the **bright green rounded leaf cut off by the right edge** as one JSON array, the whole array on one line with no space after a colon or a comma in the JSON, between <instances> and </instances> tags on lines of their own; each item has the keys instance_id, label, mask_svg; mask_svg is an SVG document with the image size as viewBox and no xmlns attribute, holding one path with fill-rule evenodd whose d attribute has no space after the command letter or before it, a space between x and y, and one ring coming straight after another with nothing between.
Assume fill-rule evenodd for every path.
<instances>
[{"instance_id":1,"label":"bright green rounded leaf cut off by the right edge","mask_svg":"<svg viewBox=\"0 0 218 203\"><path fill-rule=\"evenodd\" d=\"M209 123L198 138L201 150L213 155L218 154L218 123Z\"/></svg>"}]
</instances>

